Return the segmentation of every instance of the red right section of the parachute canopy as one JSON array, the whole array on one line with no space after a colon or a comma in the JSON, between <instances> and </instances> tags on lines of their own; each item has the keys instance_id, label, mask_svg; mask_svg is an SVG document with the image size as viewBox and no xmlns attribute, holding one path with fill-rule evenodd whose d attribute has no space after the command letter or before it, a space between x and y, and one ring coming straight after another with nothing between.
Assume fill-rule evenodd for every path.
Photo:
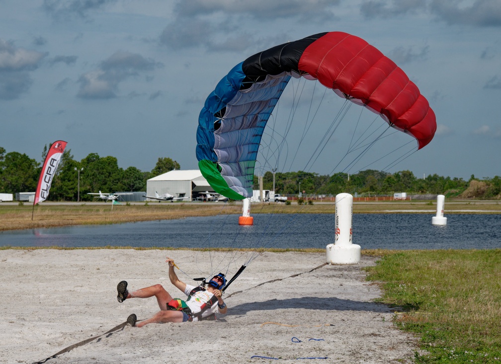
<instances>
[{"instance_id":1,"label":"red right section of the parachute canopy","mask_svg":"<svg viewBox=\"0 0 501 364\"><path fill-rule=\"evenodd\" d=\"M428 101L392 60L363 39L327 33L306 48L299 70L413 135L418 149L433 139L436 121Z\"/></svg>"}]
</instances>

